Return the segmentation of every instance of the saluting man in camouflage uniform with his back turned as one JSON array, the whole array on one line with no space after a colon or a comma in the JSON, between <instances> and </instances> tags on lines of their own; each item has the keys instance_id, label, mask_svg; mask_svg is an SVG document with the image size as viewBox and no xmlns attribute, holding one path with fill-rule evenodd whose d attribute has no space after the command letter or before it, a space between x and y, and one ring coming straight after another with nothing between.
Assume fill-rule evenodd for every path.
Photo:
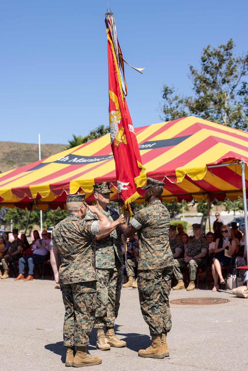
<instances>
[{"instance_id":1,"label":"saluting man in camouflage uniform with his back turned","mask_svg":"<svg viewBox=\"0 0 248 371\"><path fill-rule=\"evenodd\" d=\"M94 244L95 236L109 233L112 225L96 207L86 204L85 193L67 196L66 207L68 216L54 227L51 236L51 265L65 305L65 365L97 365L102 359L86 352L97 303ZM92 215L87 220L86 209Z\"/></svg>"}]
</instances>

